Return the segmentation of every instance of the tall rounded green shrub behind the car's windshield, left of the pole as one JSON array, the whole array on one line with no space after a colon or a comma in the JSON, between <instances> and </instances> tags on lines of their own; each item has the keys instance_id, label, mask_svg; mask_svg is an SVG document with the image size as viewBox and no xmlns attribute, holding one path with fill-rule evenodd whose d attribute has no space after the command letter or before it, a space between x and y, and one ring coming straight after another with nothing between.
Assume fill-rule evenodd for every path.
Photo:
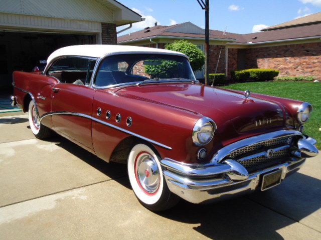
<instances>
[{"instance_id":1,"label":"tall rounded green shrub behind the car's windshield, left of the pole","mask_svg":"<svg viewBox=\"0 0 321 240\"><path fill-rule=\"evenodd\" d=\"M203 51L192 42L186 40L175 41L173 43L166 44L165 49L180 51L186 54L191 60L193 71L201 70L204 65L205 55Z\"/></svg>"}]
</instances>

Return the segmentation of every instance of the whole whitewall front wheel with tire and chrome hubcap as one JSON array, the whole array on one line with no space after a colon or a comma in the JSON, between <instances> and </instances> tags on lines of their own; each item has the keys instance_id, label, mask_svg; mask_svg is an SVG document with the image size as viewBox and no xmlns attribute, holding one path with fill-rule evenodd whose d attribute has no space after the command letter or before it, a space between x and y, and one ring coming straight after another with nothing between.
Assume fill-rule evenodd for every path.
<instances>
[{"instance_id":1,"label":"whole whitewall front wheel with tire and chrome hubcap","mask_svg":"<svg viewBox=\"0 0 321 240\"><path fill-rule=\"evenodd\" d=\"M129 181L137 199L152 211L169 209L180 199L168 188L159 159L149 146L138 143L131 149L127 163Z\"/></svg>"}]
</instances>

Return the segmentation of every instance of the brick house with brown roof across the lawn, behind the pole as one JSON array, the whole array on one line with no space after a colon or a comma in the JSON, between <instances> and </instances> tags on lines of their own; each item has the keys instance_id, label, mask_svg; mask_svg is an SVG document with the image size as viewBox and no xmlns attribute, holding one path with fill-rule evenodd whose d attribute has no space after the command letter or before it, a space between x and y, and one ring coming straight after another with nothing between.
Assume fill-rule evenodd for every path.
<instances>
[{"instance_id":1,"label":"brick house with brown roof across the lawn, behind the pole","mask_svg":"<svg viewBox=\"0 0 321 240\"><path fill-rule=\"evenodd\" d=\"M118 36L117 42L163 48L178 39L189 40L204 50L205 30L191 22L155 25ZM233 69L273 68L280 70L280 76L321 78L321 12L249 34L210 30L211 73L217 64L217 72L228 76ZM204 70L196 76L204 78Z\"/></svg>"}]
</instances>

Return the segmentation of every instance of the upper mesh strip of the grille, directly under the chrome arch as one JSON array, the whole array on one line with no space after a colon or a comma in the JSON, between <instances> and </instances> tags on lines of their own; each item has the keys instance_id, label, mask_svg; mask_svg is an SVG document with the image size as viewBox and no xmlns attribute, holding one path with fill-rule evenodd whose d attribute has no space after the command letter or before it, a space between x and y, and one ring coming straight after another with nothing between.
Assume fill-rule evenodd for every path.
<instances>
[{"instance_id":1,"label":"upper mesh strip of the grille, directly under the chrome arch","mask_svg":"<svg viewBox=\"0 0 321 240\"><path fill-rule=\"evenodd\" d=\"M292 136L283 136L283 137L273 138L273 139L266 140L266 141L261 141L261 142L237 149L235 151L232 151L227 156L229 158L235 159L236 157L238 157L240 155L248 154L252 151L262 149L263 147L275 146L275 145L286 145L286 144L288 144L287 142L288 142L289 137L292 137Z\"/></svg>"}]
</instances>

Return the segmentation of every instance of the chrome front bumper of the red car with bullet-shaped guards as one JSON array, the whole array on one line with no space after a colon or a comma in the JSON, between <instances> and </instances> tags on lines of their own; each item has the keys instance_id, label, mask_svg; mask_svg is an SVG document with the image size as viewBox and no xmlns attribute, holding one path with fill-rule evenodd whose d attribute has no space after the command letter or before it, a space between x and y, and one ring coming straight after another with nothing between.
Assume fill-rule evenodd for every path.
<instances>
[{"instance_id":1,"label":"chrome front bumper of the red car with bullet-shaped guards","mask_svg":"<svg viewBox=\"0 0 321 240\"><path fill-rule=\"evenodd\" d=\"M279 133L284 134L284 131ZM237 161L232 159L224 161L223 158L207 164L185 164L164 158L161 161L163 174L172 192L193 203L212 202L249 193L260 189L262 175L281 169L281 180L283 180L302 166L305 157L318 153L314 146L316 142L314 138L300 132L296 133L302 138L298 140L297 149L286 162L251 174Z\"/></svg>"}]
</instances>

